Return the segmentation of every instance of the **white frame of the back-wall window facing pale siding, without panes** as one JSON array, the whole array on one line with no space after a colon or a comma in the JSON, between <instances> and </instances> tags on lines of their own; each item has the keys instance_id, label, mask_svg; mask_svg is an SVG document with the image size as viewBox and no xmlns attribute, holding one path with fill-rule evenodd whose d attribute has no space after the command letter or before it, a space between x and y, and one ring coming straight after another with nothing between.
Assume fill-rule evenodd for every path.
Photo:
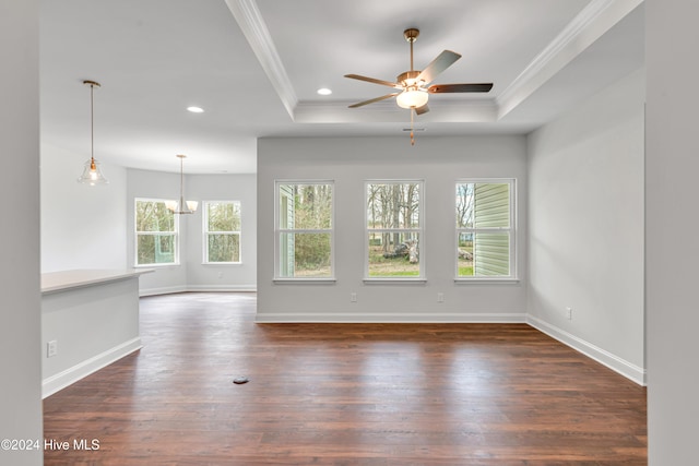
<instances>
[{"instance_id":1,"label":"white frame of the back-wall window facing pale siding, without panes","mask_svg":"<svg viewBox=\"0 0 699 466\"><path fill-rule=\"evenodd\" d=\"M509 215L509 227L471 227L471 228L460 228L457 222L457 187L459 184L467 184L467 183L482 183L482 184L508 184L510 190L509 202L510 202L510 215ZM462 232L509 232L509 274L508 275L481 275L481 276L460 276L459 275L459 255L455 254L453 261L453 273L454 273L454 282L458 284L467 284L467 283L497 283L497 282L519 282L518 278L518 265L517 265L517 250L518 250L518 223L517 223L517 178L459 178L454 181L453 184L454 192L454 204L452 205L452 215L453 225L454 225L454 237L452 244L455 244L459 248L459 237ZM475 266L475 265L474 265ZM474 271L475 273L475 271Z\"/></svg>"}]
</instances>

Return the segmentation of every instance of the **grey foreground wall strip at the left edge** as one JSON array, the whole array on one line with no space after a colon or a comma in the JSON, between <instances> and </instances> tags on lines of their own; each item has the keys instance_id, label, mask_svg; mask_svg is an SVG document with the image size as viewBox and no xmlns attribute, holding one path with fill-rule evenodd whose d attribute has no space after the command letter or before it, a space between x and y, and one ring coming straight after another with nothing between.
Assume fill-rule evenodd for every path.
<instances>
[{"instance_id":1,"label":"grey foreground wall strip at the left edge","mask_svg":"<svg viewBox=\"0 0 699 466\"><path fill-rule=\"evenodd\" d=\"M43 442L38 17L37 0L0 1L0 439ZM0 463L40 465L43 451L0 451Z\"/></svg>"}]
</instances>

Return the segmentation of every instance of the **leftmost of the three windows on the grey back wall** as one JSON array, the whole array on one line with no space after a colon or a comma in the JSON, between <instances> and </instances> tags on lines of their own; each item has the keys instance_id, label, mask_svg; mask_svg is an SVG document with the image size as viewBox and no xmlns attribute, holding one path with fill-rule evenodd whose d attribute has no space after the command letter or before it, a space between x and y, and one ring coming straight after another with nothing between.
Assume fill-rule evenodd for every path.
<instances>
[{"instance_id":1,"label":"leftmost of the three windows on the grey back wall","mask_svg":"<svg viewBox=\"0 0 699 466\"><path fill-rule=\"evenodd\" d=\"M276 182L276 278L333 278L333 183Z\"/></svg>"}]
</instances>

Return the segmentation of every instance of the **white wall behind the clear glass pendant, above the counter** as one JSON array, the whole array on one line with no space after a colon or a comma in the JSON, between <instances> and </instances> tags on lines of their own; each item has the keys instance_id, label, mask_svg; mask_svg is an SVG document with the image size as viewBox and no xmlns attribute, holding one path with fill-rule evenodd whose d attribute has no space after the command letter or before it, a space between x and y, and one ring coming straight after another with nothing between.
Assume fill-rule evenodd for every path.
<instances>
[{"instance_id":1,"label":"white wall behind the clear glass pendant, above the counter","mask_svg":"<svg viewBox=\"0 0 699 466\"><path fill-rule=\"evenodd\" d=\"M90 154L42 144L42 272L125 268L127 170L102 165L109 184L76 181ZM98 157L95 157L98 158Z\"/></svg>"}]
</instances>

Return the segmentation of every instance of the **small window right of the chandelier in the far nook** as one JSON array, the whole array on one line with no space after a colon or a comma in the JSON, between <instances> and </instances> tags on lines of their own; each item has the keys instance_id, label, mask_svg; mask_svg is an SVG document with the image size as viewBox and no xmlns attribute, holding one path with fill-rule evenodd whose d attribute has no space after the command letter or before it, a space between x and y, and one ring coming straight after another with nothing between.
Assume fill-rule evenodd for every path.
<instances>
[{"instance_id":1,"label":"small window right of the chandelier in the far nook","mask_svg":"<svg viewBox=\"0 0 699 466\"><path fill-rule=\"evenodd\" d=\"M240 263L240 202L204 202L204 263Z\"/></svg>"}]
</instances>

